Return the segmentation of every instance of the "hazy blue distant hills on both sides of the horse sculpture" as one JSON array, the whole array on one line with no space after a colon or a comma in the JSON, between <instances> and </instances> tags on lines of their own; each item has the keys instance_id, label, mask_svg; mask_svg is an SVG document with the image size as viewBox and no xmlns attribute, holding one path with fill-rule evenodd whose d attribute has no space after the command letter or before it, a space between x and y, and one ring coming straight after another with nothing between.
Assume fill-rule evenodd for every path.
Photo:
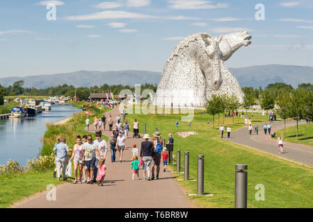
<instances>
[{"instance_id":1,"label":"hazy blue distant hills on both sides of the horse sculpture","mask_svg":"<svg viewBox=\"0 0 313 222\"><path fill-rule=\"evenodd\" d=\"M241 87L266 87L269 83L287 83L297 87L299 83L313 83L313 67L293 65L261 65L244 68L230 68ZM92 87L94 85L122 84L134 86L136 83L159 84L160 72L155 71L74 71L64 74L42 76L0 78L3 86L13 85L17 80L24 80L24 87L37 89L57 85L74 85L74 87Z\"/></svg>"}]
</instances>

